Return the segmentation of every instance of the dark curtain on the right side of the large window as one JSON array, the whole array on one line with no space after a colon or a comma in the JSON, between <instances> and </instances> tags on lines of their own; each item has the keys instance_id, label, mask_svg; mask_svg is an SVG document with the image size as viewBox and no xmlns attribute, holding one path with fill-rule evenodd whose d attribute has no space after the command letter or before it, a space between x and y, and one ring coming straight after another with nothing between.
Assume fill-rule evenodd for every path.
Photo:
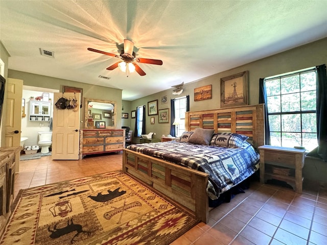
<instances>
[{"instance_id":1,"label":"dark curtain on the right side of the large window","mask_svg":"<svg viewBox=\"0 0 327 245\"><path fill-rule=\"evenodd\" d=\"M326 65L316 66L317 69L317 138L318 147L308 156L321 158L327 162L327 71Z\"/></svg>"}]
</instances>

